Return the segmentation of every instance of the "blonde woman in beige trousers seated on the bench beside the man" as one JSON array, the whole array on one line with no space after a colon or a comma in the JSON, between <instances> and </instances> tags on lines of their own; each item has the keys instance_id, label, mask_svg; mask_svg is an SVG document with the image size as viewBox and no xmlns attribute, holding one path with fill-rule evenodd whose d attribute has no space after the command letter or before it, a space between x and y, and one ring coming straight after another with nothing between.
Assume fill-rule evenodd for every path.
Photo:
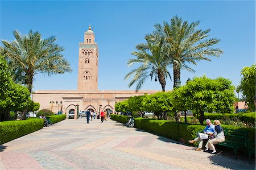
<instances>
[{"instance_id":1,"label":"blonde woman in beige trousers seated on the bench beside the man","mask_svg":"<svg viewBox=\"0 0 256 170\"><path fill-rule=\"evenodd\" d=\"M220 121L214 120L215 132L214 134L212 134L212 136L214 136L215 138L211 138L208 140L207 144L205 145L206 149L204 151L211 150L212 154L214 154L216 153L214 144L218 144L225 141L224 131L220 124Z\"/></svg>"}]
</instances>

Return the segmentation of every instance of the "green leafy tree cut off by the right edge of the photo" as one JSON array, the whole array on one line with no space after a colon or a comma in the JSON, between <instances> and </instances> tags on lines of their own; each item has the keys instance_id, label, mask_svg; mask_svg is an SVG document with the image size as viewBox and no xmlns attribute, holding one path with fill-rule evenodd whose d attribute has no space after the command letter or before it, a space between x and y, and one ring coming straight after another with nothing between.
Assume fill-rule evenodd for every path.
<instances>
[{"instance_id":1,"label":"green leafy tree cut off by the right edge of the photo","mask_svg":"<svg viewBox=\"0 0 256 170\"><path fill-rule=\"evenodd\" d=\"M256 64L251 67L244 67L241 71L241 81L237 90L241 91L243 96L246 97L245 102L249 106L249 110L255 111L254 96L255 96L255 76Z\"/></svg>"}]
</instances>

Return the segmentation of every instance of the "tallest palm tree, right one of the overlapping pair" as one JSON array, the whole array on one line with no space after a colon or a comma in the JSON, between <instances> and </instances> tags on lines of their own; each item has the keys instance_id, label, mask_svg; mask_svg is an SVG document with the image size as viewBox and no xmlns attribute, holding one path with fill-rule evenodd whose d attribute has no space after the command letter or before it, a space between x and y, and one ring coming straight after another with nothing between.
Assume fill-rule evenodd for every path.
<instances>
[{"instance_id":1,"label":"tallest palm tree, right one of the overlapping pair","mask_svg":"<svg viewBox=\"0 0 256 170\"><path fill-rule=\"evenodd\" d=\"M171 24L163 23L166 49L174 70L174 88L177 80L180 80L180 69L195 72L187 64L196 65L200 60L210 61L208 56L219 57L223 53L221 49L212 47L220 42L219 39L206 39L210 29L196 29L199 23L189 24L177 15L171 19Z\"/></svg>"}]
</instances>

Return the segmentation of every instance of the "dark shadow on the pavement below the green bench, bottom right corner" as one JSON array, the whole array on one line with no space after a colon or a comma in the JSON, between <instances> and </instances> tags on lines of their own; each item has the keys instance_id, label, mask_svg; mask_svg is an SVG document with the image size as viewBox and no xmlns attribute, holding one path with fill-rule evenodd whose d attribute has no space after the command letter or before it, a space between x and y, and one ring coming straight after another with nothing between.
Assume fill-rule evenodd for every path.
<instances>
[{"instance_id":1,"label":"dark shadow on the pavement below the green bench, bottom right corner","mask_svg":"<svg viewBox=\"0 0 256 170\"><path fill-rule=\"evenodd\" d=\"M209 156L209 159L212 161L212 164L228 169L255 169L255 161L251 161L251 164L249 164L249 159L236 160L230 157L230 160L236 162L232 163L233 161L224 161L222 154L211 155Z\"/></svg>"}]
</instances>

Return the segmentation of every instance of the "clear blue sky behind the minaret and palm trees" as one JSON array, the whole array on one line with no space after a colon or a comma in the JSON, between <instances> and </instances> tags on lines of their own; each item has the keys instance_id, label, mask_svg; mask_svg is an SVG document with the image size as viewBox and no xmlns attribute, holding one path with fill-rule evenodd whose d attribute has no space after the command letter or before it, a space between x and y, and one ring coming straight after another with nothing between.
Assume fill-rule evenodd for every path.
<instances>
[{"instance_id":1,"label":"clear blue sky behind the minaret and palm trees","mask_svg":"<svg viewBox=\"0 0 256 170\"><path fill-rule=\"evenodd\" d=\"M75 90L78 44L91 23L100 48L98 89L135 89L123 80L132 69L126 65L134 57L131 52L135 45L144 43L155 23L170 22L174 15L189 22L200 20L199 28L210 28L210 38L221 39L215 47L224 50L221 57L192 66L196 73L181 71L181 85L188 77L206 75L229 78L237 86L241 69L255 63L254 1L1 1L0 39L14 40L13 30L27 34L31 29L39 31L42 38L57 36L73 72L37 75L33 90ZM172 87L168 80L166 89ZM142 89L161 87L148 78Z\"/></svg>"}]
</instances>

